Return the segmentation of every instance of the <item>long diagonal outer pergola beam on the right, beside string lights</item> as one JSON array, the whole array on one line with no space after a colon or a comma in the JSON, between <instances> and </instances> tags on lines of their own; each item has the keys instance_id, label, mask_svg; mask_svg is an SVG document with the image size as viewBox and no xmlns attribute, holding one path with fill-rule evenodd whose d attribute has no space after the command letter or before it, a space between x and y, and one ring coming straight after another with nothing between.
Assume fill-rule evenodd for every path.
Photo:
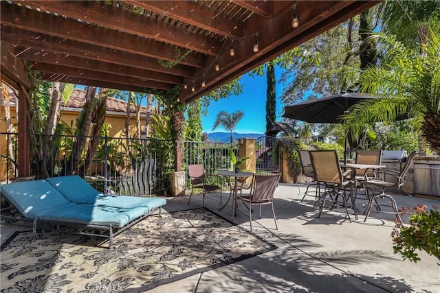
<instances>
[{"instance_id":1,"label":"long diagonal outer pergola beam on the right, beside string lights","mask_svg":"<svg viewBox=\"0 0 440 293\"><path fill-rule=\"evenodd\" d=\"M206 95L217 89L219 86L225 84L228 80L238 78L243 75L243 67L248 71L255 68L264 62L270 61L281 53L300 45L306 40L314 38L329 30L330 27L336 25L336 21L345 21L356 14L375 5L374 2L366 1L322 1L318 8L309 5L309 2L299 2L297 9L302 11L303 17L300 19L301 25L292 30L292 14L288 13L292 10L290 6L285 8L285 11L280 12L278 19L270 19L266 22L265 27L259 32L259 44L262 49L258 54L252 54L251 48L254 44L255 38L247 38L241 43L234 45L236 54L234 58L228 58L228 62L220 62L225 64L219 73L215 73L214 69L208 71L197 71L195 76L201 76L204 73L206 86L196 87L194 92L190 89L183 89L179 95L179 99L184 102L192 102L193 100ZM322 23L322 19L329 19L326 23ZM274 30L276 23L284 23L285 25L278 25L278 29ZM228 50L229 48L225 48ZM227 52L221 56L227 55ZM207 64L210 60L207 60Z\"/></svg>"}]
</instances>

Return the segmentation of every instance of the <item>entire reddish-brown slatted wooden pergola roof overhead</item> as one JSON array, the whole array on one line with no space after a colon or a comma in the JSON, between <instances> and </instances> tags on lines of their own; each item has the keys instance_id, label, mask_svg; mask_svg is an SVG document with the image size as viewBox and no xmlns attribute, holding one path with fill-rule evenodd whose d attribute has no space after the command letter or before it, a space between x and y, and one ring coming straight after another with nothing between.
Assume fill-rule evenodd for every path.
<instances>
[{"instance_id":1,"label":"entire reddish-brown slatted wooden pergola roof overhead","mask_svg":"<svg viewBox=\"0 0 440 293\"><path fill-rule=\"evenodd\" d=\"M48 81L141 93L181 86L188 103L377 3L1 1L1 78L28 88L26 60Z\"/></svg>"}]
</instances>

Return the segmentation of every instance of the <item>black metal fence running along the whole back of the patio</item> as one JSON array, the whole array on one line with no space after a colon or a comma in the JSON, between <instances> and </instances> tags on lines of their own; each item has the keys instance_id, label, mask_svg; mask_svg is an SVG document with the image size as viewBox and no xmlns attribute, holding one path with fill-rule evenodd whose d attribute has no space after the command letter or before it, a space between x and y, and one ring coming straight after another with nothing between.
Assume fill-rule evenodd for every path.
<instances>
[{"instance_id":1,"label":"black metal fence running along the whole back of the patio","mask_svg":"<svg viewBox=\"0 0 440 293\"><path fill-rule=\"evenodd\" d=\"M17 133L1 132L0 139L0 176L9 183L17 177ZM50 141L41 147L40 160L31 162L31 174L37 178L78 174L99 191L131 196L162 195L170 189L174 171L171 141L58 134L51 136ZM272 160L274 141L267 137L257 140L257 172L276 167ZM7 152L9 142L12 156ZM182 167L203 164L208 175L229 169L230 149L238 155L236 144L184 141ZM188 178L186 182L189 186Z\"/></svg>"}]
</instances>

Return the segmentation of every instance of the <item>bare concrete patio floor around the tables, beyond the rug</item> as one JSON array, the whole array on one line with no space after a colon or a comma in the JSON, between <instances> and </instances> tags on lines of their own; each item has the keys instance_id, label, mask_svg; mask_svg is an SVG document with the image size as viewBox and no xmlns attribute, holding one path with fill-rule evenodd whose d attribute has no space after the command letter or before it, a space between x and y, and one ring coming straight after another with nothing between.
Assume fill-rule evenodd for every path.
<instances>
[{"instance_id":1,"label":"bare concrete patio floor around the tables, beyond the rug","mask_svg":"<svg viewBox=\"0 0 440 293\"><path fill-rule=\"evenodd\" d=\"M421 261L403 261L393 253L391 232L394 215L371 213L364 222L362 204L359 220L349 222L347 214L322 212L313 207L314 196L303 197L307 185L281 183L275 193L278 223L275 229L270 206L263 207L261 219L255 208L252 228L256 235L278 246L276 250L228 266L161 285L148 292L440 292L440 266L435 257L418 252ZM223 192L223 203L229 196ZM201 196L167 198L164 211L201 207ZM232 205L223 211L220 194L207 194L208 209L231 218ZM439 200L395 195L398 207L418 203L432 207ZM402 217L408 223L408 215ZM249 229L248 209L239 203L235 224ZM16 228L1 226L1 242Z\"/></svg>"}]
</instances>

